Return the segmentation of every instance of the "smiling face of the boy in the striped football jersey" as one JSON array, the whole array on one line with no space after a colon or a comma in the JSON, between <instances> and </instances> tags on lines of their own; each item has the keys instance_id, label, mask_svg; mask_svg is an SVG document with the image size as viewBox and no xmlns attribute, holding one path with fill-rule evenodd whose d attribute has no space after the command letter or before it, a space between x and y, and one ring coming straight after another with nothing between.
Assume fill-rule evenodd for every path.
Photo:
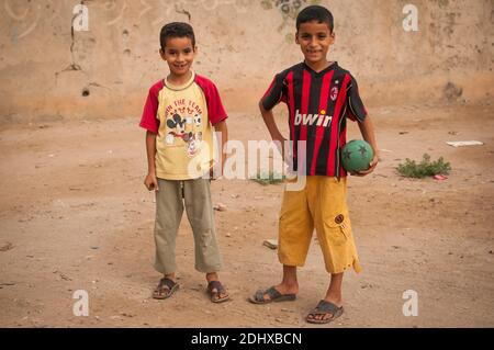
<instances>
[{"instance_id":1,"label":"smiling face of the boy in the striped football jersey","mask_svg":"<svg viewBox=\"0 0 494 350\"><path fill-rule=\"evenodd\" d=\"M305 60L311 64L326 61L329 46L335 42L335 33L329 31L326 23L307 22L299 27L295 38L300 45Z\"/></svg>"}]
</instances>

